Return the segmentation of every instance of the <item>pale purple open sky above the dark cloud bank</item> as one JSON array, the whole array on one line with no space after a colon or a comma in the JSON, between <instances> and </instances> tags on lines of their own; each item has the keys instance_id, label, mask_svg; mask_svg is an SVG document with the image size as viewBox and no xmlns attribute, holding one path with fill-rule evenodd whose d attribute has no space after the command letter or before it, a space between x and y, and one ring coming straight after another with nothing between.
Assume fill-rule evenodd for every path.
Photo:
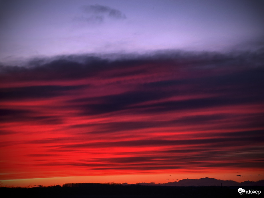
<instances>
[{"instance_id":1,"label":"pale purple open sky above the dark cloud bank","mask_svg":"<svg viewBox=\"0 0 264 198\"><path fill-rule=\"evenodd\" d=\"M80 53L255 50L263 1L0 1L0 62Z\"/></svg>"}]
</instances>

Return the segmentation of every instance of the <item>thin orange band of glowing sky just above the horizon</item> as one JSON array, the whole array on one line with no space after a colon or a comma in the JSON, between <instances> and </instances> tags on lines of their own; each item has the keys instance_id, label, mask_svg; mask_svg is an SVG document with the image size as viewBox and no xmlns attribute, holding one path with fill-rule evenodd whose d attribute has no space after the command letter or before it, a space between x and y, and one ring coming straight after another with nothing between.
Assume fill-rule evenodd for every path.
<instances>
[{"instance_id":1,"label":"thin orange band of glowing sky just above the horizon","mask_svg":"<svg viewBox=\"0 0 264 198\"><path fill-rule=\"evenodd\" d=\"M212 171L212 170L211 170ZM11 180L2 180L2 187L29 187L34 185L42 185L42 186L51 186L51 185L63 185L65 183L128 183L128 184L136 184L136 183L168 183L168 182L178 182L182 179L200 179L203 178L204 175L208 175L209 178L217 178L220 180L233 180L237 182L243 181L259 181L263 179L263 177L258 177L259 172L255 174L251 174L252 172L229 172L229 173L219 173L219 172L178 172L178 173L159 173L159 174L151 174L151 173L142 173L142 174L115 174L115 175L93 175L93 176L70 176L70 177L51 177L51 178L31 178L31 179L11 179ZM217 170L215 170L217 171ZM219 171L219 170L218 170ZM170 174L170 175L169 175ZM233 179L234 174L242 174L244 177L237 177ZM264 174L264 171L261 172ZM176 179L177 178L177 179Z\"/></svg>"}]
</instances>

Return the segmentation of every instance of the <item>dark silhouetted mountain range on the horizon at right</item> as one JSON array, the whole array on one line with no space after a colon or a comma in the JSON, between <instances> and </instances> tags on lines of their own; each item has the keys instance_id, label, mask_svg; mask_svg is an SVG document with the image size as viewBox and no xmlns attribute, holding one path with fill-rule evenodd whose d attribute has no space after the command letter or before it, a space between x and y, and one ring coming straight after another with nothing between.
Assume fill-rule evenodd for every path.
<instances>
[{"instance_id":1,"label":"dark silhouetted mountain range on the horizon at right","mask_svg":"<svg viewBox=\"0 0 264 198\"><path fill-rule=\"evenodd\" d=\"M131 185L123 183L122 185ZM134 184L135 185L135 184ZM168 182L168 183L138 183L137 185L143 186L264 186L264 180L260 181L244 181L236 182L232 180L220 180L214 178L201 178L201 179L182 179L179 181Z\"/></svg>"}]
</instances>

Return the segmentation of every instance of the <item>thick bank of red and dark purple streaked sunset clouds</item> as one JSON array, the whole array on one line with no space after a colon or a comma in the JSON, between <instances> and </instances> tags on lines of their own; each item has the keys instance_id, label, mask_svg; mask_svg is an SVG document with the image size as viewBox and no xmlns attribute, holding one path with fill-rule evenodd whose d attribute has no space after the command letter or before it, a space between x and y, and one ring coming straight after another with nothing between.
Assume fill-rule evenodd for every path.
<instances>
[{"instance_id":1,"label":"thick bank of red and dark purple streaked sunset clouds","mask_svg":"<svg viewBox=\"0 0 264 198\"><path fill-rule=\"evenodd\" d=\"M262 170L262 57L166 51L1 66L1 179Z\"/></svg>"}]
</instances>

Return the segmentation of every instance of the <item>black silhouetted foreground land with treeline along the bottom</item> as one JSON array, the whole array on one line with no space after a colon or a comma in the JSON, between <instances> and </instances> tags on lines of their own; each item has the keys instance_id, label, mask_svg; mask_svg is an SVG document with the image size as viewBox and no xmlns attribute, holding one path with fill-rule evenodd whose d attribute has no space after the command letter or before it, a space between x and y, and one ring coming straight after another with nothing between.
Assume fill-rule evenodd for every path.
<instances>
[{"instance_id":1,"label":"black silhouetted foreground land with treeline along the bottom","mask_svg":"<svg viewBox=\"0 0 264 198\"><path fill-rule=\"evenodd\" d=\"M33 188L0 188L4 197L69 197L69 198L110 198L110 197L240 197L239 187L172 187L172 186L141 186L141 185L109 185L83 183L69 186L33 187ZM243 187L254 189L264 194L264 187ZM244 194L246 197L262 197L263 194Z\"/></svg>"}]
</instances>

